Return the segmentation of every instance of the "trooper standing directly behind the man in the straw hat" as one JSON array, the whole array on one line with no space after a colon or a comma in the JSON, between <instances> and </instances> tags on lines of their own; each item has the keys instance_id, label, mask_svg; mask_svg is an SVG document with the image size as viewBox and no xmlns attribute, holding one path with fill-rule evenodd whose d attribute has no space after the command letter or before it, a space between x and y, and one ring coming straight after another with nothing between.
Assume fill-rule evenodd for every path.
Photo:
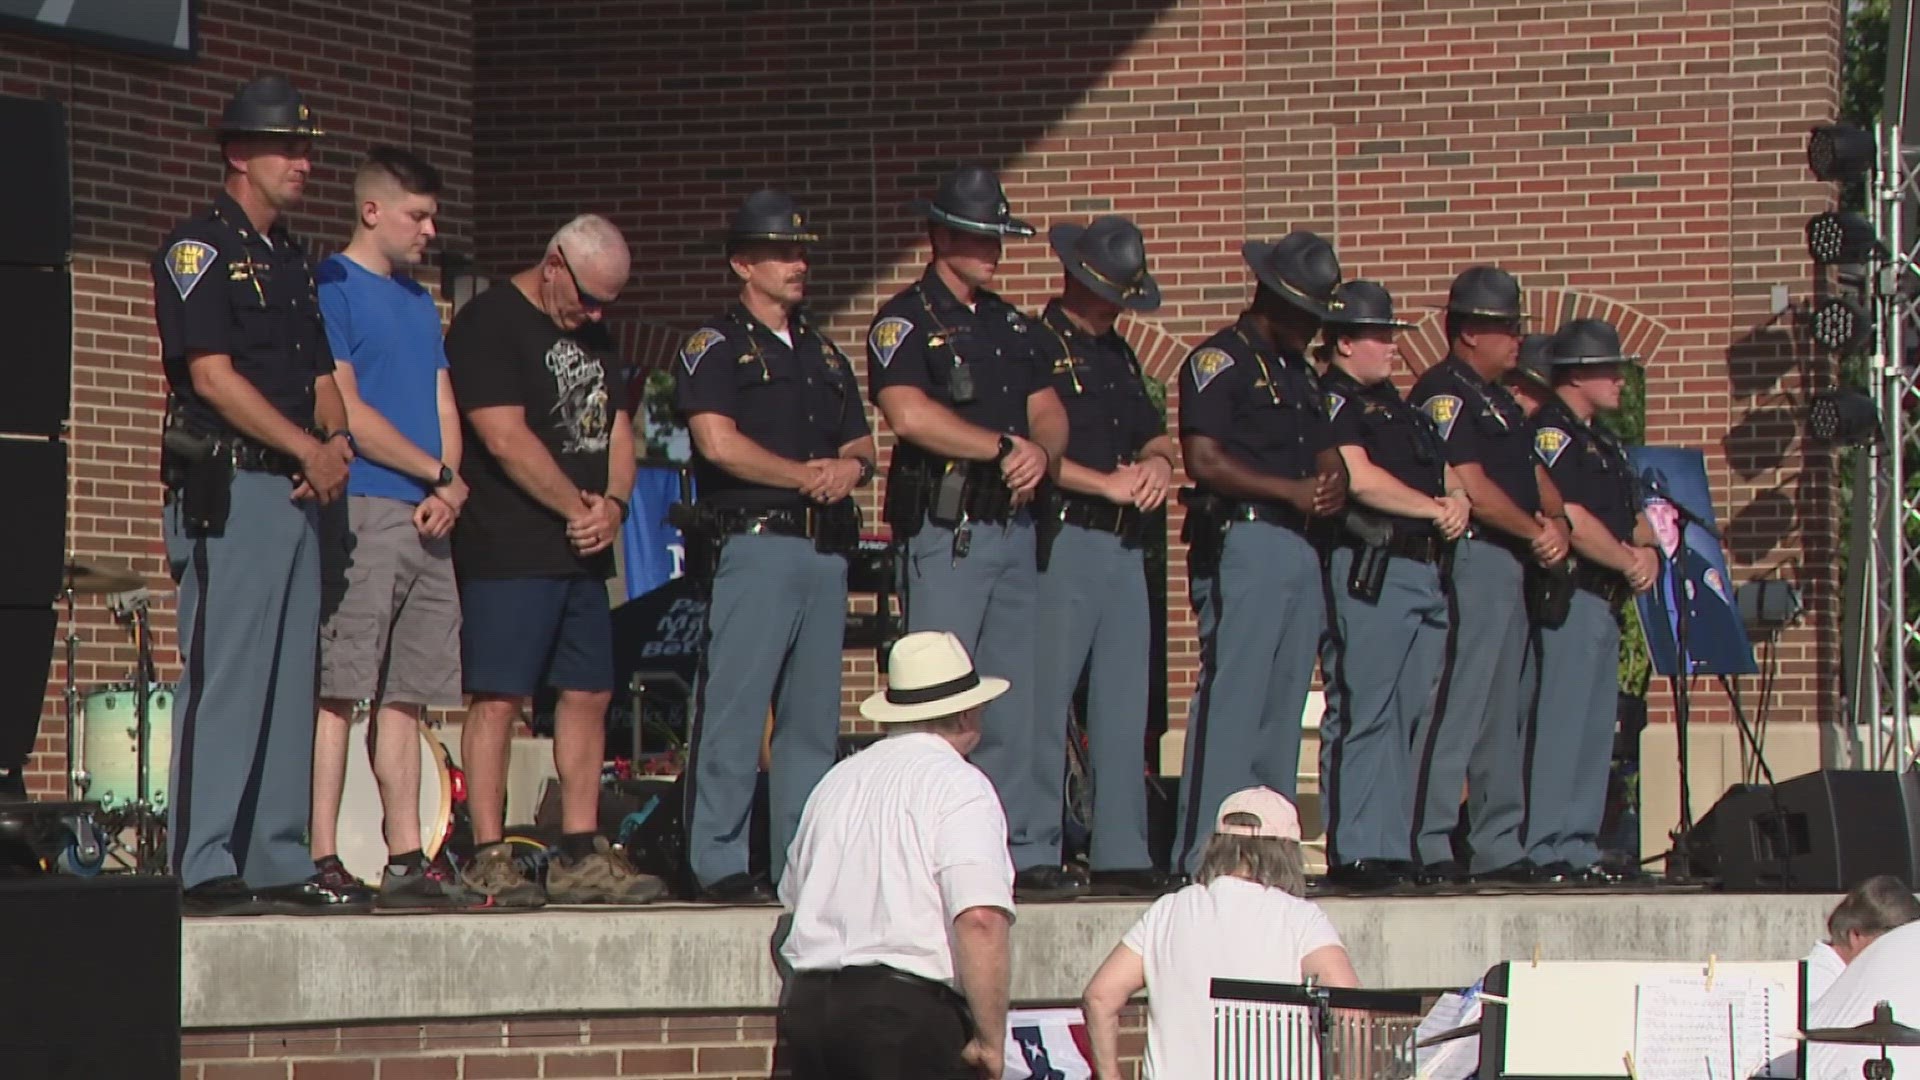
<instances>
[{"instance_id":1,"label":"trooper standing directly behind the man in the straw hat","mask_svg":"<svg viewBox=\"0 0 1920 1080\"><path fill-rule=\"evenodd\" d=\"M868 392L899 436L887 465L885 517L897 544L906 628L960 638L987 675L1014 688L987 705L973 763L1010 822L1016 886L1027 899L1071 896L1058 826L1035 834L1046 799L1033 773L1033 676L1039 569L1033 503L1058 477L1068 419L1039 332L987 284L1006 236L1033 236L981 165L948 173L927 219L933 258L887 300L866 334ZM1062 738L1054 728L1048 738Z\"/></svg>"}]
</instances>

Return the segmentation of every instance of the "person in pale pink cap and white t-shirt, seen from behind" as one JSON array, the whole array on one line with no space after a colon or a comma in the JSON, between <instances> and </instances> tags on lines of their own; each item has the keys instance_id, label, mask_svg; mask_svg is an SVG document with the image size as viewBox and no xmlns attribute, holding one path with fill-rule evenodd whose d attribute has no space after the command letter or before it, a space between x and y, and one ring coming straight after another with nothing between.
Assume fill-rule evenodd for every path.
<instances>
[{"instance_id":1,"label":"person in pale pink cap and white t-shirt, seen from behind","mask_svg":"<svg viewBox=\"0 0 1920 1080\"><path fill-rule=\"evenodd\" d=\"M1194 884L1164 896L1087 982L1096 1080L1119 1080L1119 1011L1146 988L1146 1080L1213 1074L1215 978L1359 986L1327 913L1302 899L1300 811L1271 788L1219 805Z\"/></svg>"}]
</instances>

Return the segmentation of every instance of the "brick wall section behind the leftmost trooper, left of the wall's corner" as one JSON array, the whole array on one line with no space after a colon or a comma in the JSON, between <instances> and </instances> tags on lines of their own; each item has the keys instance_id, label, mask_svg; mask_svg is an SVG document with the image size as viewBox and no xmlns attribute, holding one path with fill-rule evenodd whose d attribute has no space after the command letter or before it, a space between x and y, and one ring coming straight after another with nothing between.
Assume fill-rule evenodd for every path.
<instances>
[{"instance_id":1,"label":"brick wall section behind the leftmost trooper, left of the wall's corner","mask_svg":"<svg viewBox=\"0 0 1920 1080\"><path fill-rule=\"evenodd\" d=\"M267 29L267 27L273 29ZM0 33L0 94L67 106L73 152L73 427L69 550L142 575L154 596L159 676L177 676L173 592L159 540L159 405L165 390L146 263L173 221L213 198L207 123L257 73L282 71L328 133L317 144L296 233L334 250L351 227L351 175L376 142L411 144L445 171L442 233L472 223L470 17L457 0L342 10L319 0L207 0L196 61L148 60ZM132 678L134 646L102 598L77 603L81 694ZM61 626L65 636L65 625ZM56 648L29 784L63 790Z\"/></svg>"}]
</instances>

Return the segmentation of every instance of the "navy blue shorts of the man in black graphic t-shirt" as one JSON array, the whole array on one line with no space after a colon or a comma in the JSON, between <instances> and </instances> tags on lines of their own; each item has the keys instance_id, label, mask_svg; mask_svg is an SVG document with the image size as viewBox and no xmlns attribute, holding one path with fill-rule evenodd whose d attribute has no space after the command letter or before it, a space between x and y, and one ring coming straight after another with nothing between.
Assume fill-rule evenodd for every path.
<instances>
[{"instance_id":1,"label":"navy blue shorts of the man in black graphic t-shirt","mask_svg":"<svg viewBox=\"0 0 1920 1080\"><path fill-rule=\"evenodd\" d=\"M461 578L468 694L612 690L612 611L591 577Z\"/></svg>"}]
</instances>

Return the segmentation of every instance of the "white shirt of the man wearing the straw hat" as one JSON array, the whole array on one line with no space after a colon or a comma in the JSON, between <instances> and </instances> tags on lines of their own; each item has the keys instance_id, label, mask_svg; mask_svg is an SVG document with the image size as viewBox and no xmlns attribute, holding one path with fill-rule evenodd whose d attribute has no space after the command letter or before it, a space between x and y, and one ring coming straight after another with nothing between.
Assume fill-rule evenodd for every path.
<instances>
[{"instance_id":1,"label":"white shirt of the man wearing the straw hat","mask_svg":"<svg viewBox=\"0 0 1920 1080\"><path fill-rule=\"evenodd\" d=\"M945 738L900 734L820 780L787 847L780 901L793 970L887 965L954 980L948 932L970 907L1014 913L1006 815Z\"/></svg>"}]
</instances>

